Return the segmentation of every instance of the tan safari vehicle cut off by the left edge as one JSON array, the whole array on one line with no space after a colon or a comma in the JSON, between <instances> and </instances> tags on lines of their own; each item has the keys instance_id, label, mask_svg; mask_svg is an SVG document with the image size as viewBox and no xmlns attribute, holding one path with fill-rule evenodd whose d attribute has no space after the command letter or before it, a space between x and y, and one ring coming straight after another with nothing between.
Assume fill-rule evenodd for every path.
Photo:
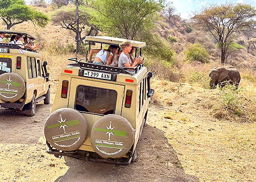
<instances>
[{"instance_id":1,"label":"tan safari vehicle cut off by the left edge","mask_svg":"<svg viewBox=\"0 0 256 182\"><path fill-rule=\"evenodd\" d=\"M6 41L13 35L22 34L34 40L25 31L0 30ZM44 100L50 103L50 81L46 69L47 62L41 64L37 51L25 46L0 43L0 107L25 110L27 116L34 116L36 103Z\"/></svg>"}]
</instances>

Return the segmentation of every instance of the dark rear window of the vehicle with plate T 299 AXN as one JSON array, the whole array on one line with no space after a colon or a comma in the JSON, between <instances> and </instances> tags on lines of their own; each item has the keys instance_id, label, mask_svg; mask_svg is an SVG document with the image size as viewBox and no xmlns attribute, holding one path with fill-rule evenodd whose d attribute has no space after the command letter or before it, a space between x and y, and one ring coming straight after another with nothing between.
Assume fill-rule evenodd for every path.
<instances>
[{"instance_id":1,"label":"dark rear window of the vehicle with plate T 299 AXN","mask_svg":"<svg viewBox=\"0 0 256 182\"><path fill-rule=\"evenodd\" d=\"M115 114L117 92L105 88L79 85L75 109L94 114Z\"/></svg>"}]
</instances>

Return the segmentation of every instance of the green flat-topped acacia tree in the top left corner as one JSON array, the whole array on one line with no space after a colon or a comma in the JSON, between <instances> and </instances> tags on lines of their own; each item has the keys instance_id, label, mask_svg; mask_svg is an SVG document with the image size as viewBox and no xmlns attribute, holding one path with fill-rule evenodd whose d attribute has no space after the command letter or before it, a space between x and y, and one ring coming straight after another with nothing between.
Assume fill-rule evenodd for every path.
<instances>
[{"instance_id":1,"label":"green flat-topped acacia tree in the top left corner","mask_svg":"<svg viewBox=\"0 0 256 182\"><path fill-rule=\"evenodd\" d=\"M49 20L43 13L28 7L24 0L0 0L0 7L0 17L6 23L7 29L29 20L44 27Z\"/></svg>"}]
</instances>

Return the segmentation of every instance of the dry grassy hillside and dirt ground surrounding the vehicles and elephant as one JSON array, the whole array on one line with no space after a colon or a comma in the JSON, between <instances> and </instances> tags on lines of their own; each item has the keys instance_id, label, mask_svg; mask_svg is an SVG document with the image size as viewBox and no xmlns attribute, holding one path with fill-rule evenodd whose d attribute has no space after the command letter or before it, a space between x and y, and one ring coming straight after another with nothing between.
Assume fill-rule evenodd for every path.
<instances>
[{"instance_id":1,"label":"dry grassy hillside and dirt ground surrounding the vehicles and elephant","mask_svg":"<svg viewBox=\"0 0 256 182\"><path fill-rule=\"evenodd\" d=\"M51 13L51 7L36 8ZM255 182L254 53L239 49L225 65L239 69L239 90L210 90L209 70L222 66L214 40L192 25L192 32L187 33L179 16L170 21L161 17L154 31L165 40L168 36L176 38L177 42L169 42L175 63L147 60L155 94L139 141L138 160L129 166L57 159L46 153L44 121L51 111L59 73L70 62L67 58L75 56L75 34L51 22L45 28L30 22L13 27L33 33L42 43L40 55L48 62L51 104L39 103L36 116L29 119L20 111L0 109L0 181ZM0 29L5 29L2 22ZM184 50L193 41L207 48L208 63L185 62Z\"/></svg>"}]
</instances>

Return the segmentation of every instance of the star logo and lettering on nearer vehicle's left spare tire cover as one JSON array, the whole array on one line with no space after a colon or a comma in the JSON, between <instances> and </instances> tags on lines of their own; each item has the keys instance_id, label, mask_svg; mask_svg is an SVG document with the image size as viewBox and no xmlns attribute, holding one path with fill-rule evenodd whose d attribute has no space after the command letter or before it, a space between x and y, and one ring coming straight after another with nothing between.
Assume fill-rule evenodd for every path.
<instances>
[{"instance_id":1,"label":"star logo and lettering on nearer vehicle's left spare tire cover","mask_svg":"<svg viewBox=\"0 0 256 182\"><path fill-rule=\"evenodd\" d=\"M60 114L60 120L57 120L58 123L47 126L47 129L53 130L53 133L60 133L60 130L63 130L63 133L61 132L62 134L52 136L52 140L56 146L70 147L75 145L81 138L80 131L77 130L77 127L75 131L71 131L68 133L66 132L66 127L72 127L79 124L79 120L66 120L67 118L63 119L62 115ZM57 131L56 129L59 131Z\"/></svg>"}]
</instances>

